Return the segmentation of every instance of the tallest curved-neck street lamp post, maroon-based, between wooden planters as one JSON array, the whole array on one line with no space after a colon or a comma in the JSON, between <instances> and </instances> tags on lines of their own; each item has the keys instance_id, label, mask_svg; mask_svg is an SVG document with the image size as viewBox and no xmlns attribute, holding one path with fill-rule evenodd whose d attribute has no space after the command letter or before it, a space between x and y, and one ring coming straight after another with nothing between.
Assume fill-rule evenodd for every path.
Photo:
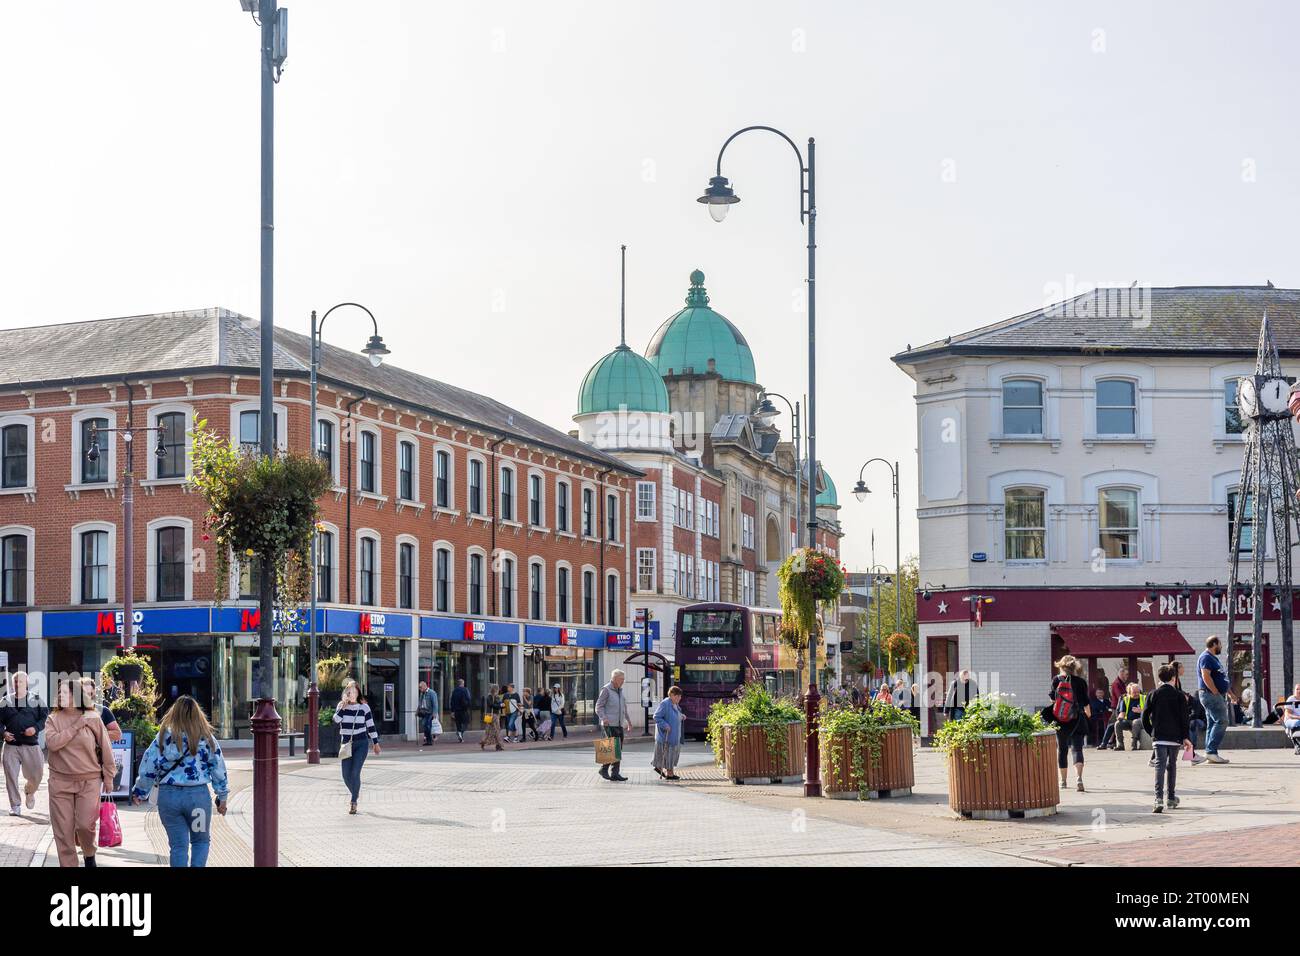
<instances>
[{"instance_id":1,"label":"tallest curved-neck street lamp post, maroon-based, between wooden planters","mask_svg":"<svg viewBox=\"0 0 1300 956\"><path fill-rule=\"evenodd\" d=\"M762 130L772 133L794 150L794 156L800 163L800 221L807 225L807 251L809 251L809 394L807 394L807 444L809 444L809 512L807 536L809 548L816 548L816 144L809 137L809 159L803 164L803 155L794 140L772 126L745 126L732 133L718 151L718 164L715 174L708 179L708 187L697 202L708 207L708 215L715 222L722 222L727 217L727 211L740 202L740 196L732 190L729 181L723 176L723 153L731 142L742 133ZM815 635L820 640L820 635ZM816 718L822 702L816 691L816 648L811 646L809 654L809 692L805 698L807 713L807 770L803 780L803 796L822 796L822 782L819 777L819 753L816 745Z\"/></svg>"}]
</instances>

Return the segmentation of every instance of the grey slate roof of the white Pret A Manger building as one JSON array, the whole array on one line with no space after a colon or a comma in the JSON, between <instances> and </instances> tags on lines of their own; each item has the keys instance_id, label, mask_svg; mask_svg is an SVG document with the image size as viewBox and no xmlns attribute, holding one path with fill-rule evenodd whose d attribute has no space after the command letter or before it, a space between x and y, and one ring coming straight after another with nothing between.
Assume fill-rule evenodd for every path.
<instances>
[{"instance_id":1,"label":"grey slate roof of the white Pret A Manger building","mask_svg":"<svg viewBox=\"0 0 1300 956\"><path fill-rule=\"evenodd\" d=\"M893 356L1108 352L1254 355L1269 313L1283 355L1300 355L1300 290L1265 286L1097 289Z\"/></svg>"}]
</instances>

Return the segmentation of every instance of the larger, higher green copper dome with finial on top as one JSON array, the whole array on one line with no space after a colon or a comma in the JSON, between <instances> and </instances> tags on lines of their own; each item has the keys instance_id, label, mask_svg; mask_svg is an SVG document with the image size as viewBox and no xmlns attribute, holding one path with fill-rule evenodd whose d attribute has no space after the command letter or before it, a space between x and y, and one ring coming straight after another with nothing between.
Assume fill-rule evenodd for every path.
<instances>
[{"instance_id":1,"label":"larger, higher green copper dome with finial on top","mask_svg":"<svg viewBox=\"0 0 1300 956\"><path fill-rule=\"evenodd\" d=\"M708 371L708 359L716 363L718 373L731 381L757 384L754 352L749 342L724 316L708 307L705 291L705 273L690 273L690 291L686 307L672 316L650 339L646 358L659 369L659 375Z\"/></svg>"}]
</instances>

